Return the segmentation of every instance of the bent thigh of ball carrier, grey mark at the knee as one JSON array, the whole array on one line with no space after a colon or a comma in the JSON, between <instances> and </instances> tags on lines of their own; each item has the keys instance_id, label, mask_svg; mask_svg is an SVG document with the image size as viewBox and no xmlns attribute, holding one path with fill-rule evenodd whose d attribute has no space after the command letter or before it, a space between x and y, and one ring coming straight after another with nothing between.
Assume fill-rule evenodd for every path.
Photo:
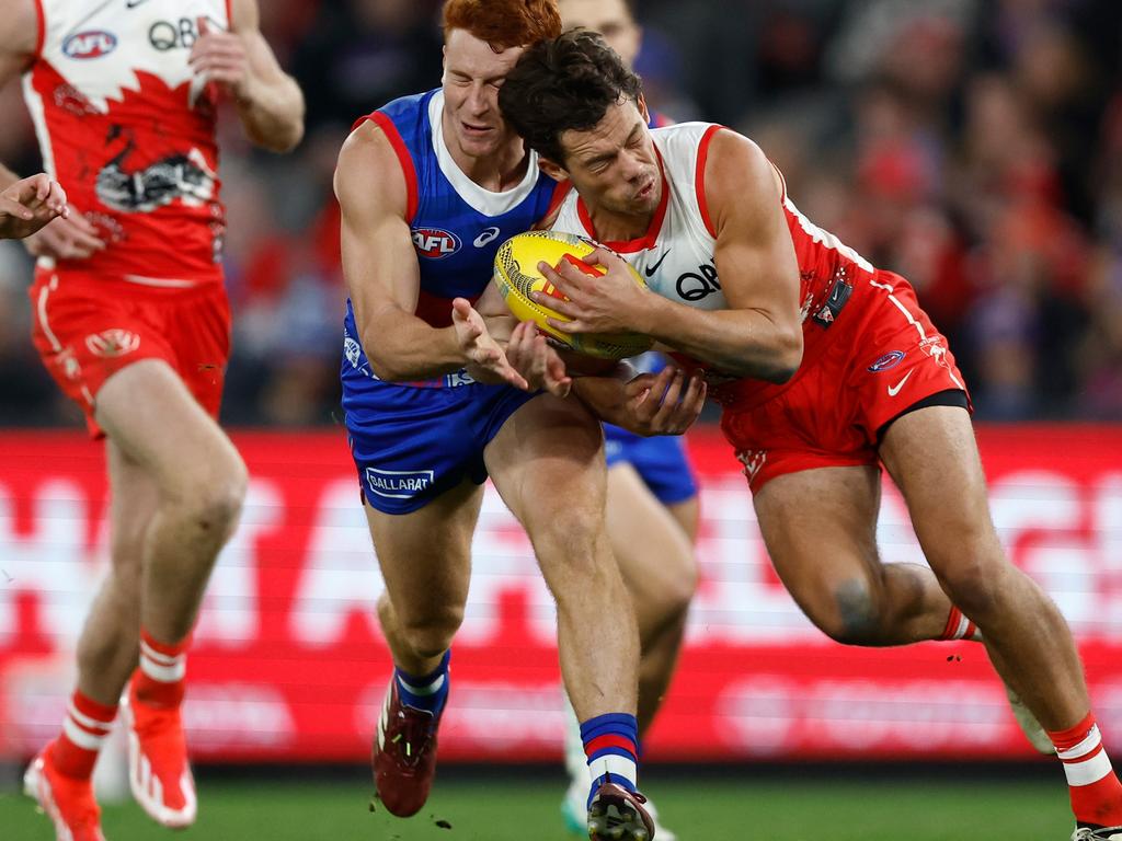
<instances>
[{"instance_id":1,"label":"bent thigh of ball carrier, grey mark at the knee","mask_svg":"<svg viewBox=\"0 0 1122 841\"><path fill-rule=\"evenodd\" d=\"M757 491L754 503L776 574L816 623L845 623L845 612L875 593L877 469L787 473Z\"/></svg>"}]
</instances>

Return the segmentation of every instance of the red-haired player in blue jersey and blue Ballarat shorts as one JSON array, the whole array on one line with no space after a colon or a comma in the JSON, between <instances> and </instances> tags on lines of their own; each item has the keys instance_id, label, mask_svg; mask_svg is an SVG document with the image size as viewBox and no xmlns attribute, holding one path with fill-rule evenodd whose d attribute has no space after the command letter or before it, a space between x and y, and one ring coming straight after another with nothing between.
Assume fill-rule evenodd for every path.
<instances>
[{"instance_id":1,"label":"red-haired player in blue jersey and blue Ballarat shorts","mask_svg":"<svg viewBox=\"0 0 1122 841\"><path fill-rule=\"evenodd\" d=\"M343 409L395 664L374 775L393 814L425 803L490 475L558 603L561 668L592 779L589 829L596 838L610 823L641 841L652 825L635 791L638 634L604 534L600 429L579 401L527 390L471 306L499 243L551 204L553 185L504 122L497 93L524 45L560 28L553 0L449 0L441 87L360 120L339 156ZM511 340L532 329L518 325ZM620 385L617 394L646 398L619 419L681 432L703 399L700 378L683 380L669 371ZM660 408L653 395L663 391Z\"/></svg>"}]
</instances>

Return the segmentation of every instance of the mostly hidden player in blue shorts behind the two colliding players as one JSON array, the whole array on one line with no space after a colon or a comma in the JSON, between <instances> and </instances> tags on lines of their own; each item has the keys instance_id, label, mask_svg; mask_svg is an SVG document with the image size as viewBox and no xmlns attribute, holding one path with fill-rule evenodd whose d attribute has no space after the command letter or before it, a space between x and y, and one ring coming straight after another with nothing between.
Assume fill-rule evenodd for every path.
<instances>
[{"instance_id":1,"label":"mostly hidden player in blue shorts behind the two colliding players","mask_svg":"<svg viewBox=\"0 0 1122 841\"><path fill-rule=\"evenodd\" d=\"M628 0L558 0L565 29L598 31L628 67L643 44L642 27ZM652 113L651 127L670 124ZM657 371L659 353L632 360L641 370ZM604 425L608 463L608 537L638 620L638 731L642 738L659 712L678 664L698 571L693 543L698 529L698 492L681 437L643 437L615 424ZM561 805L565 825L585 828L588 771L576 719L565 731L570 785ZM647 812L663 841L673 832L660 824L653 803Z\"/></svg>"}]
</instances>

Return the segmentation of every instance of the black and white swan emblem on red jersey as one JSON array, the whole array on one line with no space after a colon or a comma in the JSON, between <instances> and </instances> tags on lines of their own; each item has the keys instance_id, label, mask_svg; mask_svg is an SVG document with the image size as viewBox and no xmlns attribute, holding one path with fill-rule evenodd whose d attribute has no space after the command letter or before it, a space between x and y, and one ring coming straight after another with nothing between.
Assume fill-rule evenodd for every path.
<instances>
[{"instance_id":1,"label":"black and white swan emblem on red jersey","mask_svg":"<svg viewBox=\"0 0 1122 841\"><path fill-rule=\"evenodd\" d=\"M123 136L114 127L110 139ZM98 173L98 198L113 210L126 213L151 213L176 198L200 205L214 197L218 174L206 164L199 149L175 153L141 169L129 170L126 159L136 151L136 141L128 138L125 148Z\"/></svg>"}]
</instances>

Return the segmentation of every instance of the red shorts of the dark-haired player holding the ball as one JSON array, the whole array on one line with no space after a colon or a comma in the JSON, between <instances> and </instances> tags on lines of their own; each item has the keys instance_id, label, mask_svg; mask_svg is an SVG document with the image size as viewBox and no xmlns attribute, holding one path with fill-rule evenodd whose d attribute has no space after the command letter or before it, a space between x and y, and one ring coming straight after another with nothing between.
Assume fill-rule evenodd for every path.
<instances>
[{"instance_id":1,"label":"red shorts of the dark-haired player holding the ball","mask_svg":"<svg viewBox=\"0 0 1122 841\"><path fill-rule=\"evenodd\" d=\"M864 283L790 382L726 403L721 431L753 492L784 473L876 464L881 427L931 395L959 390L969 405L947 340L911 285L890 271Z\"/></svg>"}]
</instances>

